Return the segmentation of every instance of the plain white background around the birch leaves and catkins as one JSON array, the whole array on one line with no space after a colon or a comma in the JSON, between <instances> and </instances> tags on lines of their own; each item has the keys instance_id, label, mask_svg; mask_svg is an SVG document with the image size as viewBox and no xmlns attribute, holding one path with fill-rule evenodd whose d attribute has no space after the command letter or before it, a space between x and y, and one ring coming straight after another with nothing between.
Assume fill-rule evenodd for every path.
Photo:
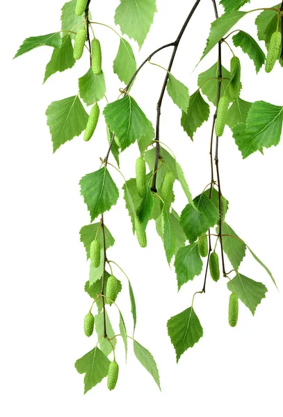
<instances>
[{"instance_id":1,"label":"plain white background around the birch leaves and catkins","mask_svg":"<svg viewBox=\"0 0 283 417\"><path fill-rule=\"evenodd\" d=\"M118 0L92 3L93 18L114 26ZM241 272L266 284L268 293L254 317L240 305L235 329L227 324L225 279L218 284L209 279L207 293L195 299L204 337L177 365L166 322L191 305L194 291L202 288L203 275L178 294L174 268L168 268L154 222L149 224L147 248L141 250L131 234L122 198L105 215L116 240L108 256L122 265L133 283L138 311L136 339L154 354L162 392L131 349L127 366L124 364L119 341L117 388L109 393L104 379L83 396L83 375L76 373L74 361L92 349L95 337L86 338L82 327L90 298L83 291L89 266L79 229L89 223L89 215L79 195L79 179L99 168L99 156L104 156L107 148L105 126L101 119L90 142L83 142L82 136L74 138L53 155L45 110L51 101L76 94L77 79L88 68L87 54L72 70L51 76L45 85L42 81L51 49L42 47L12 60L24 38L60 29L61 6L63 2L56 0L15 0L1 6L1 415L282 416L282 295L266 272L250 255L241 265ZM175 39L193 1L159 0L157 6L159 13L140 54L134 45L138 63ZM252 7L260 6L273 6L273 1L252 1ZM245 17L236 27L255 36L256 15ZM197 88L197 74L217 59L213 49L193 72L212 20L211 1L203 0L172 70L191 93ZM107 96L113 101L122 86L112 72L119 38L102 26L95 27L95 33L102 42ZM282 68L277 65L269 76L264 70L256 76L248 56L240 49L236 54L243 66L242 98L282 105ZM168 65L169 55L169 50L163 51L154 62ZM227 67L231 54L225 46L223 55ZM163 76L162 70L147 65L132 89L152 122ZM197 195L209 182L211 120L191 142L179 118L179 109L166 94L161 140L174 150L191 192ZM122 154L125 177L134 176L137 156L136 145ZM227 222L272 270L281 290L282 158L282 143L266 150L264 157L257 152L243 161L228 128L220 140L223 193L230 202ZM115 170L111 173L121 187L120 175ZM175 208L180 212L186 199L179 184L176 193ZM118 304L130 332L127 297L124 281Z\"/></svg>"}]
</instances>

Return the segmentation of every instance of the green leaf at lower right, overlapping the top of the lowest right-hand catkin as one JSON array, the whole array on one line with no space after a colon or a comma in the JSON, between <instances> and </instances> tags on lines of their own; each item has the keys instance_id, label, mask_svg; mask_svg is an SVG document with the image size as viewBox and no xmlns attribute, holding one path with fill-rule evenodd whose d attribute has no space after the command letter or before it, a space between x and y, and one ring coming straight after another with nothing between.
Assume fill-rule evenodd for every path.
<instances>
[{"instance_id":1,"label":"green leaf at lower right, overlapping the top of the lowest right-hand catkin","mask_svg":"<svg viewBox=\"0 0 283 417\"><path fill-rule=\"evenodd\" d=\"M237 274L232 281L228 282L227 287L230 291L236 293L241 302L250 309L252 316L254 316L261 300L266 297L266 286L261 282L245 277L245 275Z\"/></svg>"}]
</instances>

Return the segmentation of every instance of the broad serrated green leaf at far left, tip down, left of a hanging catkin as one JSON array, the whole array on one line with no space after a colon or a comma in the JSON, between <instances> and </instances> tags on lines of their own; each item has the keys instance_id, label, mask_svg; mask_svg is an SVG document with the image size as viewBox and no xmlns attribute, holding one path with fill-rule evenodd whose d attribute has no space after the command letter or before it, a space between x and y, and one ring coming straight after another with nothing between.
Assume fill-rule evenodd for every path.
<instances>
[{"instance_id":1,"label":"broad serrated green leaf at far left, tip down, left of a hanging catkin","mask_svg":"<svg viewBox=\"0 0 283 417\"><path fill-rule=\"evenodd\" d=\"M88 113L77 95L53 101L47 108L46 115L54 152L63 143L79 136L88 122Z\"/></svg>"}]
</instances>

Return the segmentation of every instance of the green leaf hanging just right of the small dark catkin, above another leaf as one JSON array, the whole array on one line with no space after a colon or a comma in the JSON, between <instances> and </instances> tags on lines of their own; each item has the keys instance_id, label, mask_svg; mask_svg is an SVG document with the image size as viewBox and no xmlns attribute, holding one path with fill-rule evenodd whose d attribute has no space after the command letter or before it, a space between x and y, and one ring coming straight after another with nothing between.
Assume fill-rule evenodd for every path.
<instances>
[{"instance_id":1,"label":"green leaf hanging just right of the small dark catkin, above another leaf","mask_svg":"<svg viewBox=\"0 0 283 417\"><path fill-rule=\"evenodd\" d=\"M216 229L216 232L219 233L219 227ZM238 270L241 261L245 257L245 243L227 223L222 224L222 234L229 235L223 236L223 250L227 254L232 267Z\"/></svg>"}]
</instances>

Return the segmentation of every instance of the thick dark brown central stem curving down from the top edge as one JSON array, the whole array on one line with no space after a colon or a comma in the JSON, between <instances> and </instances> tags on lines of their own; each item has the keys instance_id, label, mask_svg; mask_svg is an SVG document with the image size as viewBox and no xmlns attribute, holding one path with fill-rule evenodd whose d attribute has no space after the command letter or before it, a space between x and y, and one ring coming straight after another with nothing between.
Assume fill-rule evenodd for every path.
<instances>
[{"instance_id":1,"label":"thick dark brown central stem curving down from the top edge","mask_svg":"<svg viewBox=\"0 0 283 417\"><path fill-rule=\"evenodd\" d=\"M170 58L170 63L168 65L168 72L165 75L165 79L163 81L163 85L161 88L161 93L159 96L159 101L157 103L157 108L156 108L156 133L155 133L155 141L156 141L156 154L155 154L155 163L154 163L154 176L152 178L152 191L154 193L156 193L156 178L157 178L157 168L158 168L158 164L159 164L159 158L160 158L160 143L159 143L159 132L160 132L160 117L161 117L161 106L162 106L162 101L163 101L163 97L164 97L164 93L165 93L165 89L166 89L166 85L168 83L168 79L169 79L169 72L172 69L172 65L174 63L175 60L175 56L177 54L177 49L179 47L179 43L180 40L182 38L182 36L184 35L184 32L186 31L186 27L188 26L188 22L190 22L191 17L193 17L193 14L195 13L195 10L197 8L197 6L199 5L200 0L197 0L191 10L191 12L189 13L188 17L186 18L186 21L184 22L183 26L181 27L181 31L179 32L179 35L177 36L177 39L175 40L175 42L173 42L174 44L174 49L172 51L172 56Z\"/></svg>"}]
</instances>

